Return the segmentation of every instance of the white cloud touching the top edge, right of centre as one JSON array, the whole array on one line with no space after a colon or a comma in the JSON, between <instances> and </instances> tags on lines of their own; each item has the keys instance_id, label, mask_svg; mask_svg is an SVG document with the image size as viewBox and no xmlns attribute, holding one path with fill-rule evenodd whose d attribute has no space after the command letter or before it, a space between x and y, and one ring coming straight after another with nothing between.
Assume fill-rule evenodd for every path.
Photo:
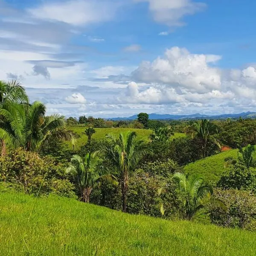
<instances>
[{"instance_id":1,"label":"white cloud touching the top edge, right of centre","mask_svg":"<svg viewBox=\"0 0 256 256\"><path fill-rule=\"evenodd\" d=\"M183 17L193 15L206 7L192 0L134 0L148 2L154 20L168 26L183 26Z\"/></svg>"}]
</instances>

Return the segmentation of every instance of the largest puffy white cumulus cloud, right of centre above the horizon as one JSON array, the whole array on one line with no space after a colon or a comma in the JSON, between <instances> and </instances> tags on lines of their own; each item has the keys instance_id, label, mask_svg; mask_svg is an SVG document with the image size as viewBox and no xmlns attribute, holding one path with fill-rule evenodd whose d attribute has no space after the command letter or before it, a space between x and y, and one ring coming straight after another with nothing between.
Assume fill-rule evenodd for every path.
<instances>
[{"instance_id":1,"label":"largest puffy white cumulus cloud, right of centre above the horizon","mask_svg":"<svg viewBox=\"0 0 256 256\"><path fill-rule=\"evenodd\" d=\"M145 83L169 84L205 93L221 87L221 72L210 65L220 58L218 55L191 54L186 49L172 47L163 57L140 64L131 76Z\"/></svg>"}]
</instances>

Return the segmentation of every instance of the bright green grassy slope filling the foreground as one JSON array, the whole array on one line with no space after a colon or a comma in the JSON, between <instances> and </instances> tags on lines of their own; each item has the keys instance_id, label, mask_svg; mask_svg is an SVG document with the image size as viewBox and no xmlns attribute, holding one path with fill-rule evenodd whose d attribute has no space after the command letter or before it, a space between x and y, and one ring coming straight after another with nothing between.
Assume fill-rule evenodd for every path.
<instances>
[{"instance_id":1,"label":"bright green grassy slope filling the foreground","mask_svg":"<svg viewBox=\"0 0 256 256\"><path fill-rule=\"evenodd\" d=\"M256 236L67 198L0 192L0 255L252 256Z\"/></svg>"}]
</instances>

